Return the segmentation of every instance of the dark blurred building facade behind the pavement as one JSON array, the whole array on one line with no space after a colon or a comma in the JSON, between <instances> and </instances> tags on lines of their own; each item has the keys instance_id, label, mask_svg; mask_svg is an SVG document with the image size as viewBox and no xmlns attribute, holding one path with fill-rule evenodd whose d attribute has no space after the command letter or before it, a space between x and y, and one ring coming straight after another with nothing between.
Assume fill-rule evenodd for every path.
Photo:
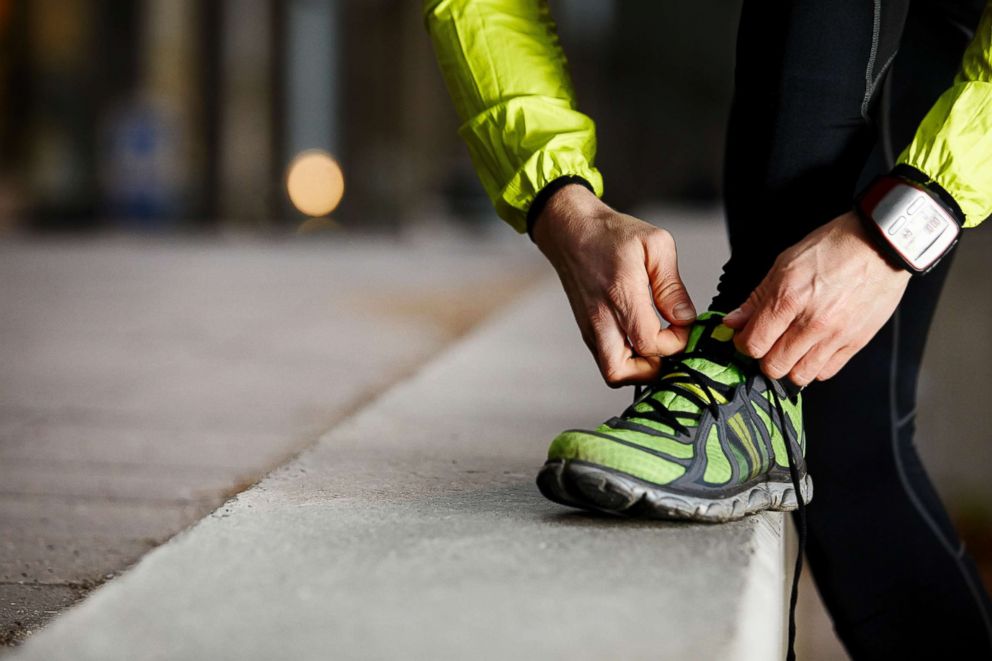
<instances>
[{"instance_id":1,"label":"dark blurred building facade behind the pavement","mask_svg":"<svg viewBox=\"0 0 992 661\"><path fill-rule=\"evenodd\" d=\"M552 10L610 201L714 200L736 4ZM457 123L420 2L0 0L0 227L292 227L315 147L343 224L488 221Z\"/></svg>"}]
</instances>

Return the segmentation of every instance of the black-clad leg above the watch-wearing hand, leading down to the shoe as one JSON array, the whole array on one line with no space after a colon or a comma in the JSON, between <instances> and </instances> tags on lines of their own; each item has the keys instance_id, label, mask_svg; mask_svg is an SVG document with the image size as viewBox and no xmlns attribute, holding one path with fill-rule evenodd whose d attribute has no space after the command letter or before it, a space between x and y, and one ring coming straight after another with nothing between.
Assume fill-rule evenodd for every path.
<instances>
[{"instance_id":1,"label":"black-clad leg above the watch-wearing hand, leading down to the shoe","mask_svg":"<svg viewBox=\"0 0 992 661\"><path fill-rule=\"evenodd\" d=\"M724 198L731 258L711 308L747 298L778 254L851 207L875 142L868 101L905 2L746 2ZM885 28L884 30L882 28Z\"/></svg>"}]
</instances>

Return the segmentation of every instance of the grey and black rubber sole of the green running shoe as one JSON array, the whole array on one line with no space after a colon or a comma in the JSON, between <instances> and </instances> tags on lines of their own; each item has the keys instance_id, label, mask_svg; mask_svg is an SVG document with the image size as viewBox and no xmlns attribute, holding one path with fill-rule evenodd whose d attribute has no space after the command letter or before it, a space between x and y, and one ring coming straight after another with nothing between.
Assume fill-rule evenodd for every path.
<instances>
[{"instance_id":1,"label":"grey and black rubber sole of the green running shoe","mask_svg":"<svg viewBox=\"0 0 992 661\"><path fill-rule=\"evenodd\" d=\"M563 459L548 461L537 487L550 500L569 507L609 514L723 523L763 511L791 512L799 507L791 482L762 482L724 498L703 498L666 491L632 475ZM813 499L813 480L800 482L803 499Z\"/></svg>"}]
</instances>

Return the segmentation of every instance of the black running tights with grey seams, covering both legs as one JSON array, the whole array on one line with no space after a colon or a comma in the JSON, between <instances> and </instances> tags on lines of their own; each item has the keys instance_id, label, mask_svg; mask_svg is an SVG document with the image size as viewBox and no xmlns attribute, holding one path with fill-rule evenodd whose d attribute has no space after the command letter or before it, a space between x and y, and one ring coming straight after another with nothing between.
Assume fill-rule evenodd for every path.
<instances>
[{"instance_id":1,"label":"black running tights with grey seams, covering both legs","mask_svg":"<svg viewBox=\"0 0 992 661\"><path fill-rule=\"evenodd\" d=\"M712 309L740 305L783 249L849 211L859 182L891 166L884 154L908 144L950 85L962 26L982 4L745 1L724 185L732 256ZM881 141L879 126L892 130ZM914 278L868 347L804 394L809 565L855 659L992 658L988 594L913 446L917 376L950 264Z\"/></svg>"}]
</instances>

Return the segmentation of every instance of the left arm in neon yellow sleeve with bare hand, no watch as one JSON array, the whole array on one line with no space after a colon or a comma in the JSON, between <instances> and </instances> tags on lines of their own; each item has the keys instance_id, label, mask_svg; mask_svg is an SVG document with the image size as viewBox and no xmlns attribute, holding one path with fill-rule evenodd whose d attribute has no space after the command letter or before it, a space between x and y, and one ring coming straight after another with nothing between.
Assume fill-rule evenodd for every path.
<instances>
[{"instance_id":1,"label":"left arm in neon yellow sleeve with bare hand, no watch","mask_svg":"<svg viewBox=\"0 0 992 661\"><path fill-rule=\"evenodd\" d=\"M577 110L547 3L428 0L425 12L497 213L531 231L555 267L606 382L651 379L659 356L685 347L696 313L671 235L599 200L595 126Z\"/></svg>"}]
</instances>

